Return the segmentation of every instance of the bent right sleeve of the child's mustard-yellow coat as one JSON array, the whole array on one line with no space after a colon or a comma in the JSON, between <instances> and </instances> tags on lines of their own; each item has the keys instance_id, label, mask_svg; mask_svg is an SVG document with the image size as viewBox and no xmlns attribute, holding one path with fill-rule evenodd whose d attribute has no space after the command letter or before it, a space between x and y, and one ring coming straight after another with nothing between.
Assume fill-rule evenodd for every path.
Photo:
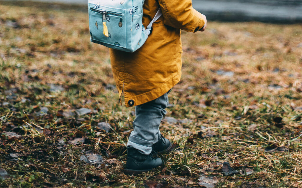
<instances>
[{"instance_id":1,"label":"bent right sleeve of the child's mustard-yellow coat","mask_svg":"<svg viewBox=\"0 0 302 188\"><path fill-rule=\"evenodd\" d=\"M192 7L191 0L158 0L164 23L188 32L196 32L204 26L201 13Z\"/></svg>"}]
</instances>

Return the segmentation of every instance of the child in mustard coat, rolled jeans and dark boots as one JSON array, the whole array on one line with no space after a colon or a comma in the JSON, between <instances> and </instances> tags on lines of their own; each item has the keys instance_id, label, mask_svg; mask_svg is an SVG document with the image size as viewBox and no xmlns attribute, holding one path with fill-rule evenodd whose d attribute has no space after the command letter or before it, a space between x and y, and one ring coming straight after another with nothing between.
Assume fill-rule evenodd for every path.
<instances>
[{"instance_id":1,"label":"child in mustard coat, rolled jeans and dark boots","mask_svg":"<svg viewBox=\"0 0 302 188\"><path fill-rule=\"evenodd\" d=\"M153 31L141 48L134 53L110 49L119 96L124 92L126 106L135 106L134 131L127 144L128 174L161 166L162 160L155 153L171 150L172 144L160 134L159 124L166 114L167 95L181 77L180 30L204 31L207 26L206 17L192 8L191 0L145 0L145 28L159 8L162 16L153 23Z\"/></svg>"}]
</instances>

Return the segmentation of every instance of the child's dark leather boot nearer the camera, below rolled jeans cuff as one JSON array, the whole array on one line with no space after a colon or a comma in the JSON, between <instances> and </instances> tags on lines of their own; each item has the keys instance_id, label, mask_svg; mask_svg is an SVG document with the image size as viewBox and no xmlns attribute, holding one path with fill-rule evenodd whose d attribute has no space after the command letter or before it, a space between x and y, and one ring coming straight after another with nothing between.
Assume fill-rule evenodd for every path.
<instances>
[{"instance_id":1,"label":"child's dark leather boot nearer the camera, below rolled jeans cuff","mask_svg":"<svg viewBox=\"0 0 302 188\"><path fill-rule=\"evenodd\" d=\"M149 155L144 155L135 148L127 147L125 174L141 174L163 165L162 159L154 154L156 153L152 151Z\"/></svg>"}]
</instances>

